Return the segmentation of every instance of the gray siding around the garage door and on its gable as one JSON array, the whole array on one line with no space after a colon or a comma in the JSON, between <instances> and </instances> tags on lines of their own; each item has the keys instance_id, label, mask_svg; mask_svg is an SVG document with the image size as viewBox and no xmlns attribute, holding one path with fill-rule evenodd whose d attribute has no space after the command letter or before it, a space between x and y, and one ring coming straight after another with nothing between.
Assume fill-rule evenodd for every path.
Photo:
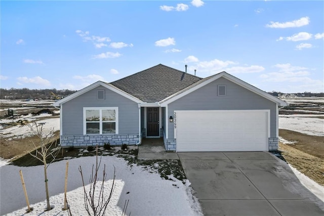
<instances>
[{"instance_id":1,"label":"gray siding around the garage door and on its gable","mask_svg":"<svg viewBox=\"0 0 324 216\"><path fill-rule=\"evenodd\" d=\"M226 85L226 95L217 95L217 86ZM270 110L270 136L276 135L276 103L255 94L231 81L220 78L179 98L168 106L168 115L175 110ZM174 138L174 128L169 127L168 138Z\"/></svg>"}]
</instances>

